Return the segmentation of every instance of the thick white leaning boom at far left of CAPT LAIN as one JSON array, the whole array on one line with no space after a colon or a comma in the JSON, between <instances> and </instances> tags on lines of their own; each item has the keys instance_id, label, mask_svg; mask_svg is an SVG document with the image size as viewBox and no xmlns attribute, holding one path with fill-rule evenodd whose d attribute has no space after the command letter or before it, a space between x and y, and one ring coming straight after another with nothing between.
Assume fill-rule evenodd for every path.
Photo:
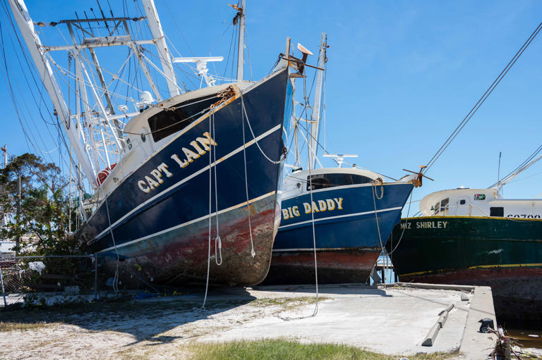
<instances>
[{"instance_id":1,"label":"thick white leaning boom at far left of CAPT LAIN","mask_svg":"<svg viewBox=\"0 0 542 360\"><path fill-rule=\"evenodd\" d=\"M40 37L37 36L34 30L34 23L32 22L32 18L30 18L26 5L23 0L8 0L8 2L26 46L28 46L30 56L32 56L38 73L42 77L44 87L47 89L59 120L64 126L64 131L68 135L73 151L76 152L76 156L80 161L80 166L89 182L95 187L95 169L92 167L89 157L85 154L85 149L81 146L78 126L71 121L68 106L66 106L66 101L64 101L59 85L56 82L49 60L45 56Z\"/></svg>"}]
</instances>

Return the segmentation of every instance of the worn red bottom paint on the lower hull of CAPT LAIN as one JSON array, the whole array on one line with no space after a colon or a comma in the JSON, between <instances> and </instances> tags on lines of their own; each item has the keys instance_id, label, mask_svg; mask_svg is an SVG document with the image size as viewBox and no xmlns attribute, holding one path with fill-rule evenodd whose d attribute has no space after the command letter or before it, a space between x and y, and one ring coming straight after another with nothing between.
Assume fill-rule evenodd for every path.
<instances>
[{"instance_id":1,"label":"worn red bottom paint on the lower hull of CAPT LAIN","mask_svg":"<svg viewBox=\"0 0 542 360\"><path fill-rule=\"evenodd\" d=\"M271 204L273 201L275 197L251 204L248 209L243 207L219 215L218 231L213 217L210 242L206 219L181 231L167 232L122 248L123 256L128 257L119 262L122 278L131 285L138 279L160 285L205 284L207 259L210 259L211 285L257 285L267 275L279 225L280 209ZM248 211L251 213L250 227ZM222 242L222 262L217 235ZM251 235L254 256L251 254ZM109 256L105 260L109 271L114 271L116 258Z\"/></svg>"}]
</instances>

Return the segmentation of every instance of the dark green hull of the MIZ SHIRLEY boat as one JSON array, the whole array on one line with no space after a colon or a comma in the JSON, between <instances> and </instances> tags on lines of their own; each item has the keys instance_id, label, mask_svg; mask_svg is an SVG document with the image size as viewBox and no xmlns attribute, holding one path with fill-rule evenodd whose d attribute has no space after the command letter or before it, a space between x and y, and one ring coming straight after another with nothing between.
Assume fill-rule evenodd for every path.
<instances>
[{"instance_id":1,"label":"dark green hull of the MIZ SHIRLEY boat","mask_svg":"<svg viewBox=\"0 0 542 360\"><path fill-rule=\"evenodd\" d=\"M404 235L397 225L387 244L401 281L490 286L499 323L542 324L542 221L433 216L405 223Z\"/></svg>"}]
</instances>

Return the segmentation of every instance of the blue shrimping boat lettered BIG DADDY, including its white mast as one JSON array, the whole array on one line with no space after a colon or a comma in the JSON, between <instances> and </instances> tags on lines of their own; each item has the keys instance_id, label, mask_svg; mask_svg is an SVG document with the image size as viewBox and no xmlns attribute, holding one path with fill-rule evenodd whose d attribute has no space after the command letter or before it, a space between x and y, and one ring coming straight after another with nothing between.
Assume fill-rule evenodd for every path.
<instances>
[{"instance_id":1,"label":"blue shrimping boat lettered BIG DADDY, including its white mast","mask_svg":"<svg viewBox=\"0 0 542 360\"><path fill-rule=\"evenodd\" d=\"M323 34L319 69L325 67L326 49ZM282 187L282 220L265 283L314 283L315 267L318 283L365 283L414 188L414 175L384 182L383 175L371 170L343 168L349 155L324 154L338 167L321 166L317 154L323 74L318 70L316 75L311 120L292 118L296 158ZM302 123L307 124L306 135ZM306 170L301 168L300 134L308 147Z\"/></svg>"}]
</instances>

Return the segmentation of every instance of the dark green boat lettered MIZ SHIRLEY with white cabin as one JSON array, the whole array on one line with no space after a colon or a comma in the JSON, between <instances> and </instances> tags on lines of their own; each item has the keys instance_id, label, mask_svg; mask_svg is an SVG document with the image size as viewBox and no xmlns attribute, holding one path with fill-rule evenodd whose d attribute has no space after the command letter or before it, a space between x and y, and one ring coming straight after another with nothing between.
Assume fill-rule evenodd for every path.
<instances>
[{"instance_id":1,"label":"dark green boat lettered MIZ SHIRLEY with white cabin","mask_svg":"<svg viewBox=\"0 0 542 360\"><path fill-rule=\"evenodd\" d=\"M427 195L420 211L387 244L401 281L490 286L500 323L542 323L542 199L459 188Z\"/></svg>"}]
</instances>

